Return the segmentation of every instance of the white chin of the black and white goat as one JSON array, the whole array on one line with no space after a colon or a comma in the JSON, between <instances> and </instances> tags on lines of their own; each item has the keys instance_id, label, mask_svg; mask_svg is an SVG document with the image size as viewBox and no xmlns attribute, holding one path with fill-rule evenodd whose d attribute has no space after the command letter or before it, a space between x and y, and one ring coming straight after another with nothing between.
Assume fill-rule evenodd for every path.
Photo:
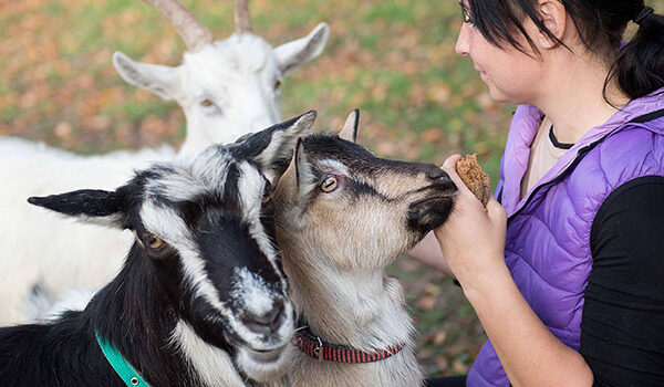
<instances>
[{"instance_id":1,"label":"white chin of the black and white goat","mask_svg":"<svg viewBox=\"0 0 664 387\"><path fill-rule=\"evenodd\" d=\"M276 381L286 375L293 357L293 346L287 344L272 351L252 351L240 347L237 364L252 380Z\"/></svg>"}]
</instances>

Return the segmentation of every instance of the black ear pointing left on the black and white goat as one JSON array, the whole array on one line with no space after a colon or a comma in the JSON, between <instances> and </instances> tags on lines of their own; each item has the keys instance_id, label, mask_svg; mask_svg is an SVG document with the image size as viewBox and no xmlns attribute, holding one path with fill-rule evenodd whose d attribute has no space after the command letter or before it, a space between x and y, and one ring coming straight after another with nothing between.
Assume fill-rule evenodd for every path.
<instances>
[{"instance_id":1,"label":"black ear pointing left on the black and white goat","mask_svg":"<svg viewBox=\"0 0 664 387\"><path fill-rule=\"evenodd\" d=\"M117 191L82 189L77 191L31 197L28 202L89 223L124 229L126 203Z\"/></svg>"}]
</instances>

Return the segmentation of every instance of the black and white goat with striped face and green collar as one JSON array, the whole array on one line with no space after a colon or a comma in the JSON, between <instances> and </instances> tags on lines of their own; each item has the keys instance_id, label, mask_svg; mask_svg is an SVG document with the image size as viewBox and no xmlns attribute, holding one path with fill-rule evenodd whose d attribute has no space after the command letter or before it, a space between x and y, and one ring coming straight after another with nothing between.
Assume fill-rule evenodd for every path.
<instances>
[{"instance_id":1,"label":"black and white goat with striped face and green collar","mask_svg":"<svg viewBox=\"0 0 664 387\"><path fill-rule=\"evenodd\" d=\"M136 239L84 311L0 328L0 384L122 386L98 335L153 386L272 385L290 364L294 313L273 245L269 171L314 118L154 165L115 191L30 198Z\"/></svg>"}]
</instances>

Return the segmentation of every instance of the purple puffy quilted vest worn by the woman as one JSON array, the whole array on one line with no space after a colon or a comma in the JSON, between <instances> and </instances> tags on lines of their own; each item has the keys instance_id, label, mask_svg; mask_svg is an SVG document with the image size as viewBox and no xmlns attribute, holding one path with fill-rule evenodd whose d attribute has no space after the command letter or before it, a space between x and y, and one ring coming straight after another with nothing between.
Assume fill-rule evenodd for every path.
<instances>
[{"instance_id":1,"label":"purple puffy quilted vest worn by the woman","mask_svg":"<svg viewBox=\"0 0 664 387\"><path fill-rule=\"evenodd\" d=\"M593 219L621 185L664 176L662 109L664 88L632 101L591 128L523 199L521 179L543 114L533 106L519 106L515 113L496 189L508 215L505 261L535 313L577 351L583 292L592 271ZM509 386L490 342L479 352L467 385Z\"/></svg>"}]
</instances>

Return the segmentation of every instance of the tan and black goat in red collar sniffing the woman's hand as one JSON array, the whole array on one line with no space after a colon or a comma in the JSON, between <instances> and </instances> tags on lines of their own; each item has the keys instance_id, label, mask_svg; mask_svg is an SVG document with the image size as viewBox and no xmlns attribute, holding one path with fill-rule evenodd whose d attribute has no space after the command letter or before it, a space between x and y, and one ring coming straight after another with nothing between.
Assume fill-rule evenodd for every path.
<instances>
[{"instance_id":1,"label":"tan and black goat in red collar sniffing the woman's hand","mask_svg":"<svg viewBox=\"0 0 664 387\"><path fill-rule=\"evenodd\" d=\"M293 386L421 386L403 290L385 266L447 218L456 187L429 164L339 136L299 140L274 194L277 241L302 328Z\"/></svg>"}]
</instances>

